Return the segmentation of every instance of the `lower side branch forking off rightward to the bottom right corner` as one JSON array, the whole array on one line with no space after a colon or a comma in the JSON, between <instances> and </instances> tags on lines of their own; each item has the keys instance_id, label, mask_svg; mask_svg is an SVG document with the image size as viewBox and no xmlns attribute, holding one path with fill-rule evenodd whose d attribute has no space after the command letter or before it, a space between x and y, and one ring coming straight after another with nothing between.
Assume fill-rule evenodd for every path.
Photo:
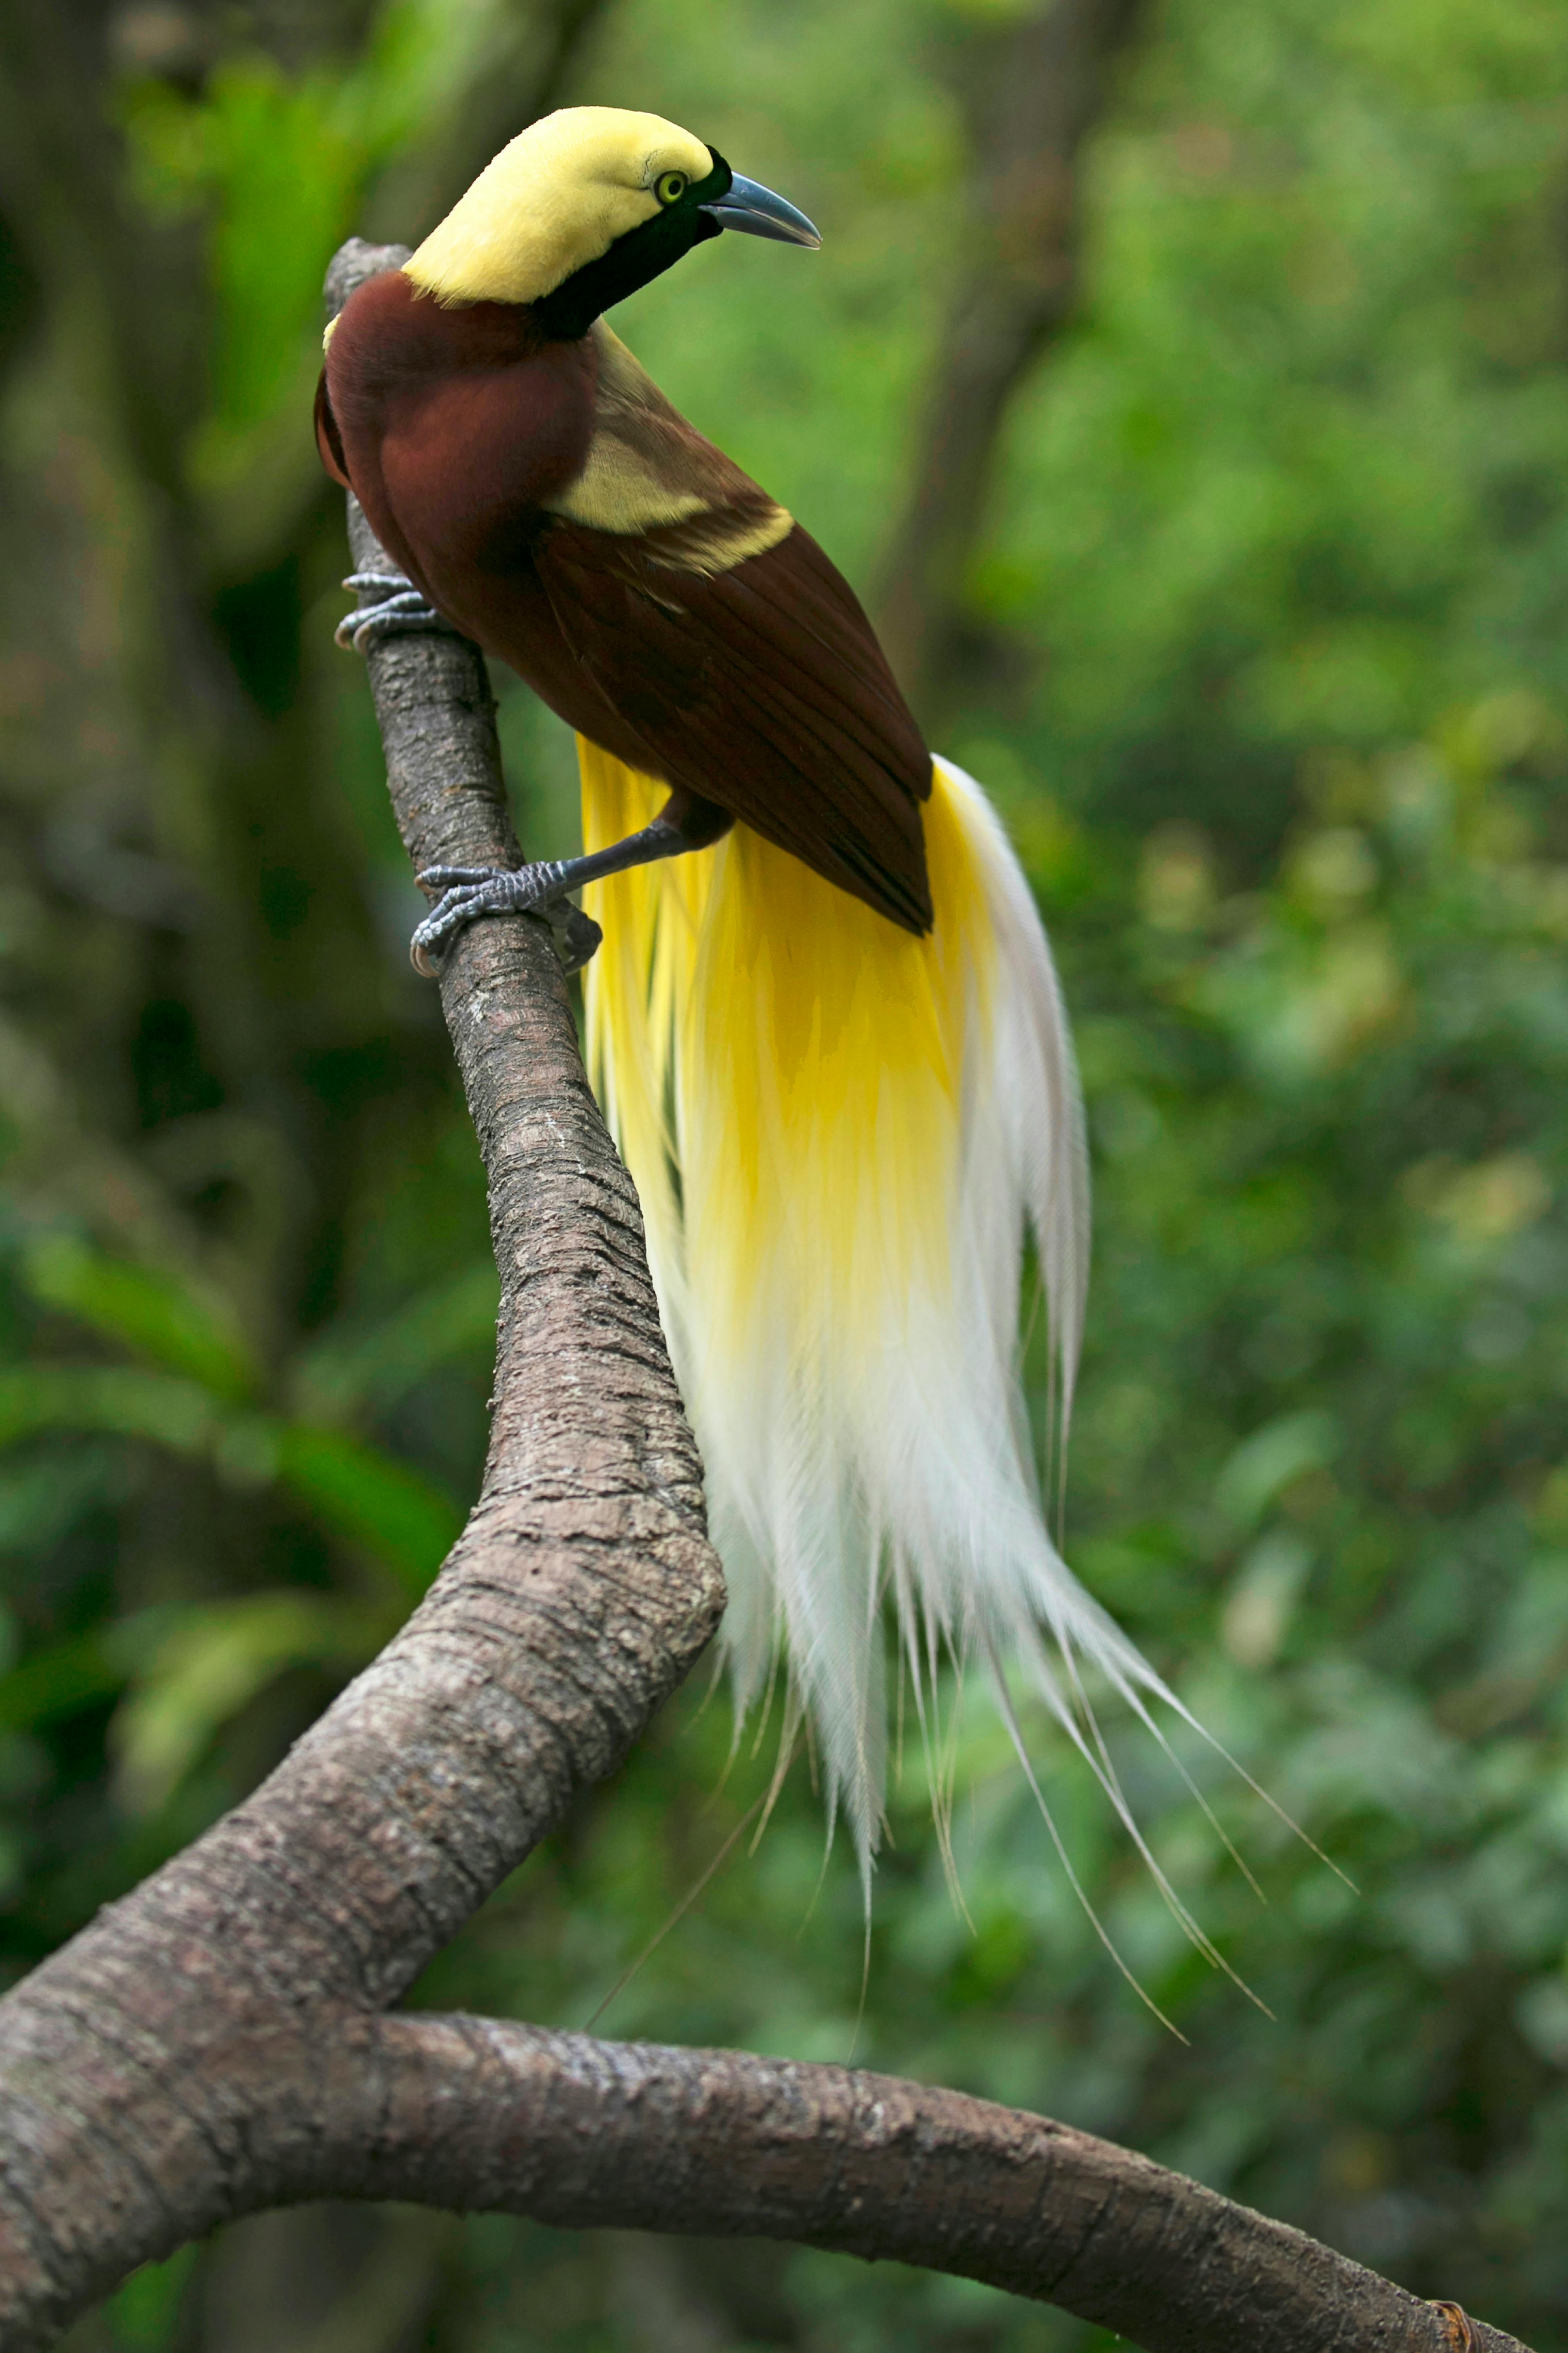
<instances>
[{"instance_id":1,"label":"lower side branch forking off rightward to the bottom right corner","mask_svg":"<svg viewBox=\"0 0 1568 2353\"><path fill-rule=\"evenodd\" d=\"M952 2271L1147 2353L1441 2353L1443 2313L1070 2125L893 2075L355 2019L275 2195L400 2198L562 2228L757 2235ZM1474 2325L1476 2353L1523 2353Z\"/></svg>"}]
</instances>

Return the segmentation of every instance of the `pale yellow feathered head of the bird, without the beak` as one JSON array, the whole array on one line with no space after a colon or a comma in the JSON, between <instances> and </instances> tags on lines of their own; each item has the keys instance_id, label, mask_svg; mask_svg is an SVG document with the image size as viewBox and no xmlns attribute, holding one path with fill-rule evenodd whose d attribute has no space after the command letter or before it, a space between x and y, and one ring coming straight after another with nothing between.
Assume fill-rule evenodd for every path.
<instances>
[{"instance_id":1,"label":"pale yellow feathered head of the bird, without the beak","mask_svg":"<svg viewBox=\"0 0 1568 2353\"><path fill-rule=\"evenodd\" d=\"M562 106L501 148L407 273L447 304L541 301L618 238L705 188L715 165L701 139L663 115ZM717 169L712 193L722 195L729 172ZM701 233L693 228L682 249Z\"/></svg>"}]
</instances>

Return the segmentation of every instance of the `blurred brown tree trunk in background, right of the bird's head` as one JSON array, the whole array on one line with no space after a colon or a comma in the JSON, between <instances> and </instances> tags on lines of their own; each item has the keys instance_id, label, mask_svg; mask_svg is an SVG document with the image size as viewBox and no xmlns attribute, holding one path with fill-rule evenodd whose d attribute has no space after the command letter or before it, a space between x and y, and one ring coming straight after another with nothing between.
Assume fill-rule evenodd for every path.
<instances>
[{"instance_id":1,"label":"blurred brown tree trunk in background, right of the bird's head","mask_svg":"<svg viewBox=\"0 0 1568 2353\"><path fill-rule=\"evenodd\" d=\"M1020 21L971 28L954 52L976 158L961 282L877 605L898 680L929 727L994 652L964 612L964 574L1006 407L1072 318L1079 151L1143 12L1145 0L1051 0Z\"/></svg>"}]
</instances>

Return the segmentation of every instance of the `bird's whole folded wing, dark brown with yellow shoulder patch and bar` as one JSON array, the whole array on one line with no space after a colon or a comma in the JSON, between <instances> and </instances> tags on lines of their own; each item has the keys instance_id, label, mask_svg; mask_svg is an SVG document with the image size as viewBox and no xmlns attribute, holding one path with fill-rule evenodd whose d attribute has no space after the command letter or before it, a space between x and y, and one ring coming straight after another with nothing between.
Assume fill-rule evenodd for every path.
<instances>
[{"instance_id":1,"label":"bird's whole folded wing, dark brown with yellow shoulder patch and bar","mask_svg":"<svg viewBox=\"0 0 1568 2353\"><path fill-rule=\"evenodd\" d=\"M853 588L602 322L595 358L588 466L534 539L571 656L654 774L929 929L931 758Z\"/></svg>"}]
</instances>

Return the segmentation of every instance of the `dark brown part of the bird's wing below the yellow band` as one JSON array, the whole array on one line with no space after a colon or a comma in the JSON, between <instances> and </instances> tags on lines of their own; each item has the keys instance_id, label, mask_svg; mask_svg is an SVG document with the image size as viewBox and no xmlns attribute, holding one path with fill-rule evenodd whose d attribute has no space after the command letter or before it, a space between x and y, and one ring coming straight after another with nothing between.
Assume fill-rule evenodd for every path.
<instances>
[{"instance_id":1,"label":"dark brown part of the bird's wing below the yellow band","mask_svg":"<svg viewBox=\"0 0 1568 2353\"><path fill-rule=\"evenodd\" d=\"M931 755L853 588L799 525L703 569L712 527L550 520L534 560L567 645L656 774L929 932Z\"/></svg>"}]
</instances>

